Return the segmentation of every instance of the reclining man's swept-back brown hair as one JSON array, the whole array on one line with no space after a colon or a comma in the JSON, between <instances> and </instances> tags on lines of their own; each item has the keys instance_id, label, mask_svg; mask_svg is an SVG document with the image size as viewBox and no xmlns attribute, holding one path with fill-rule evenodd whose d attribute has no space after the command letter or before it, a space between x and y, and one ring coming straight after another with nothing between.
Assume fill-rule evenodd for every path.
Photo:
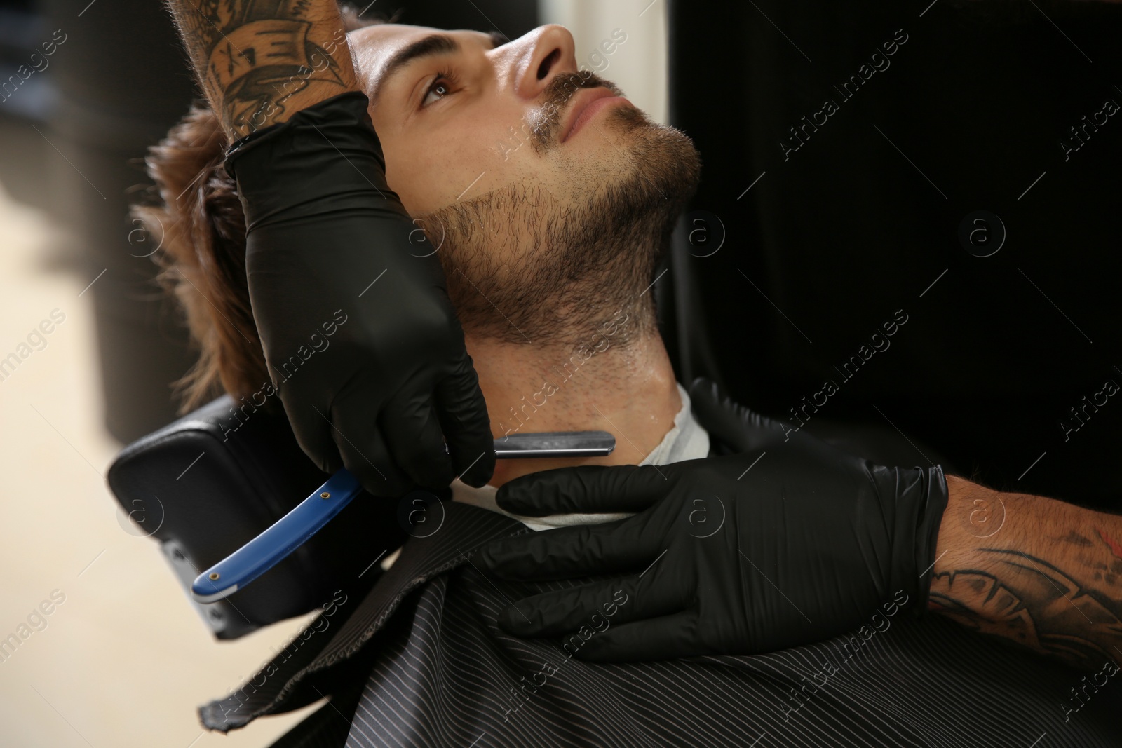
<instances>
[{"instance_id":1,"label":"reclining man's swept-back brown hair","mask_svg":"<svg viewBox=\"0 0 1122 748\"><path fill-rule=\"evenodd\" d=\"M387 22L360 19L351 8L342 17L348 31ZM223 391L248 397L269 381L246 281L245 216L222 166L229 145L214 112L196 102L145 158L159 202L132 207L160 248L153 256L157 281L182 306L200 352L173 382L180 413Z\"/></svg>"}]
</instances>

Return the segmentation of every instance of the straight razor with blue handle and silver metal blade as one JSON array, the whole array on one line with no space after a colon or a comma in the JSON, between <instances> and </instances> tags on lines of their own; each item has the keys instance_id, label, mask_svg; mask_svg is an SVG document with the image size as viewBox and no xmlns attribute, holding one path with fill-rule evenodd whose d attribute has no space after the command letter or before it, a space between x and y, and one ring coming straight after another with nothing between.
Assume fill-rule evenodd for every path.
<instances>
[{"instance_id":1,"label":"straight razor with blue handle and silver metal blade","mask_svg":"<svg viewBox=\"0 0 1122 748\"><path fill-rule=\"evenodd\" d=\"M607 456L615 446L615 436L603 431L511 434L495 440L495 456ZM361 490L352 473L340 470L264 533L196 576L191 597L197 602L217 602L243 589L319 533Z\"/></svg>"}]
</instances>

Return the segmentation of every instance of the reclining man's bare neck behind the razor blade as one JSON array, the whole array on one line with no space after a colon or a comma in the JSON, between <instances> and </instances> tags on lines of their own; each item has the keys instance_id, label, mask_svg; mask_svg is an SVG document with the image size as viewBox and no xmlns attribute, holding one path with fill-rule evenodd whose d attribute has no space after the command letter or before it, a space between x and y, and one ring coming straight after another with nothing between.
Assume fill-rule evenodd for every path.
<instances>
[{"instance_id":1,"label":"reclining man's bare neck behind the razor blade","mask_svg":"<svg viewBox=\"0 0 1122 748\"><path fill-rule=\"evenodd\" d=\"M656 332L623 339L615 325L576 347L466 336L496 438L550 431L616 437L607 458L498 460L490 486L553 468L638 464L662 442L682 407L666 349Z\"/></svg>"}]
</instances>

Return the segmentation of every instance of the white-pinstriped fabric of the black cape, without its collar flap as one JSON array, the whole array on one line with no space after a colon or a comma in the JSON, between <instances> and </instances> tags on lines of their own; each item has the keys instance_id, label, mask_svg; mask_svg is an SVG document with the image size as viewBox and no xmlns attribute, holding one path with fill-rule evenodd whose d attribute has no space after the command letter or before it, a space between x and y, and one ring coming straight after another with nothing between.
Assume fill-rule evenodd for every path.
<instances>
[{"instance_id":1,"label":"white-pinstriped fabric of the black cape, without its collar flap","mask_svg":"<svg viewBox=\"0 0 1122 748\"><path fill-rule=\"evenodd\" d=\"M898 612L848 648L842 637L623 665L496 628L508 600L567 584L506 583L466 563L421 587L378 655L347 748L1122 745L1122 686L1065 721L1082 674L938 617ZM808 682L820 685L799 695Z\"/></svg>"}]
</instances>

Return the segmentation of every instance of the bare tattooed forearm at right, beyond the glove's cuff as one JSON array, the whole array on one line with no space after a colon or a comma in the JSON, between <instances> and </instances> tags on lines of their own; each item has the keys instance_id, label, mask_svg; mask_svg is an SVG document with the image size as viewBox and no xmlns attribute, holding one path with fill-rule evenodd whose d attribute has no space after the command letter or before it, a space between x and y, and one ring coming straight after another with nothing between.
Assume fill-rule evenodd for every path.
<instances>
[{"instance_id":1,"label":"bare tattooed forearm at right, beyond the glove's cuff","mask_svg":"<svg viewBox=\"0 0 1122 748\"><path fill-rule=\"evenodd\" d=\"M1088 672L1122 662L1122 517L947 484L929 607Z\"/></svg>"}]
</instances>

